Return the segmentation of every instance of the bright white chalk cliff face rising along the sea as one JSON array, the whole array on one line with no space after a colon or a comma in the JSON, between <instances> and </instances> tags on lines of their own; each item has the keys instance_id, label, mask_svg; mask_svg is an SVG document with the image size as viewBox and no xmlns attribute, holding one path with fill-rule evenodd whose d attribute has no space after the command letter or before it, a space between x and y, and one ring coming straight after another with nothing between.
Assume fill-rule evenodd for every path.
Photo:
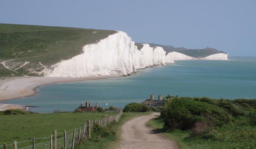
<instances>
[{"instance_id":1,"label":"bright white chalk cliff face rising along the sea","mask_svg":"<svg viewBox=\"0 0 256 149\"><path fill-rule=\"evenodd\" d=\"M210 55L205 59L227 59L227 55L220 53ZM138 50L132 39L119 31L96 44L83 47L83 53L69 60L62 60L52 65L52 69L45 68L41 73L45 76L74 76L89 75L128 75L137 69L150 66L174 63L174 60L198 59L182 53L171 52L166 55L162 47L150 47L143 44Z\"/></svg>"}]
</instances>

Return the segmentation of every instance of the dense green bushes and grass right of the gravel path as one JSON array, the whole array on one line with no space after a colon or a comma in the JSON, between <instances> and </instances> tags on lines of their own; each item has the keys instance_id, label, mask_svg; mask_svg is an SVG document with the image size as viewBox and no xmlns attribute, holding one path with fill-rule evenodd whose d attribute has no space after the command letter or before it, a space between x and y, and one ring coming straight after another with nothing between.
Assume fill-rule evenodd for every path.
<instances>
[{"instance_id":1,"label":"dense green bushes and grass right of the gravel path","mask_svg":"<svg viewBox=\"0 0 256 149\"><path fill-rule=\"evenodd\" d=\"M256 100L166 97L161 115L148 122L181 148L254 148Z\"/></svg>"}]
</instances>

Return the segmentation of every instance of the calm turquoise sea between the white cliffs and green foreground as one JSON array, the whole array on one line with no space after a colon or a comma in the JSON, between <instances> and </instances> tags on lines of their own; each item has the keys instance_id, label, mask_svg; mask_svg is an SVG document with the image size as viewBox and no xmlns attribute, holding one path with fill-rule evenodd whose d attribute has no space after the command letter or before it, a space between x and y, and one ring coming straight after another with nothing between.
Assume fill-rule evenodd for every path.
<instances>
[{"instance_id":1,"label":"calm turquoise sea between the white cliffs and green foreground","mask_svg":"<svg viewBox=\"0 0 256 149\"><path fill-rule=\"evenodd\" d=\"M95 105L124 107L143 102L154 94L211 98L256 98L256 58L221 60L184 60L176 64L140 70L126 77L52 84L40 87L35 96L4 103L39 106L40 113L73 111L81 101Z\"/></svg>"}]
</instances>

